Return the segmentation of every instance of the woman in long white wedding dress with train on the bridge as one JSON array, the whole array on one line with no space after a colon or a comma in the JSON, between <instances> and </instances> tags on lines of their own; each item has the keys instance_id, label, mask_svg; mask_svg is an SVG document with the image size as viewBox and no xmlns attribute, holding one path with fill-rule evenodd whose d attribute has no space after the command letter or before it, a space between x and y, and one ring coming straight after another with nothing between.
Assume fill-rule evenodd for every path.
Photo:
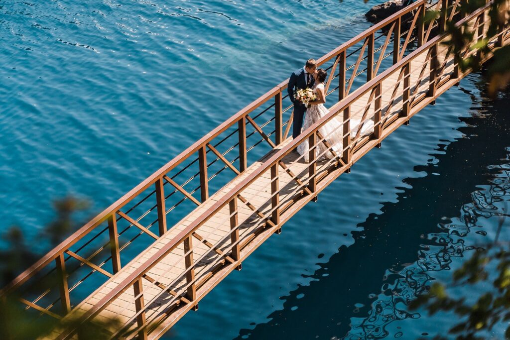
<instances>
[{"instance_id":1,"label":"woman in long white wedding dress with train on the bridge","mask_svg":"<svg viewBox=\"0 0 510 340\"><path fill-rule=\"evenodd\" d=\"M304 123L303 123L303 131L312 126L319 119L324 117L329 113L329 110L326 109L324 103L326 102L326 95L324 90L324 81L326 80L327 72L319 68L314 73L315 85L314 85L314 93L317 95L317 100L311 101L309 103L309 108L305 113ZM358 132L358 126L360 125L360 119L350 120L350 128L351 128L351 136L355 136ZM333 149L337 156L342 156L343 152L343 122L338 119L338 117L334 117L330 119L327 123L322 125L319 128L319 133L321 137L327 142L327 144ZM374 130L374 123L372 120L367 120L362 127L361 136L370 135ZM317 139L317 146L315 148L315 157L318 158L318 161L323 161L325 159L334 158L333 153L331 153L326 145ZM326 152L324 152L326 151ZM308 139L298 145L297 152L300 155L304 155L304 161L309 162L308 159ZM320 156L319 156L320 155Z\"/></svg>"}]
</instances>

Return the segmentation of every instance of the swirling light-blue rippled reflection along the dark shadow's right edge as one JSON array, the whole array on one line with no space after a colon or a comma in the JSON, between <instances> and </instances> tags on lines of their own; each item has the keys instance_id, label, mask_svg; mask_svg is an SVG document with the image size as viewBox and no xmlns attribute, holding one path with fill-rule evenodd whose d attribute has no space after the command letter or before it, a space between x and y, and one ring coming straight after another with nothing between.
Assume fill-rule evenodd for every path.
<instances>
[{"instance_id":1,"label":"swirling light-blue rippled reflection along the dark shadow's right edge","mask_svg":"<svg viewBox=\"0 0 510 340\"><path fill-rule=\"evenodd\" d=\"M506 148L510 152L510 147ZM510 159L510 154L507 160ZM471 194L472 202L464 204L461 216L453 218L450 223L440 223L439 227L444 232L429 233L427 239L437 246L423 246L420 250L419 259L398 272L389 271L394 278L393 283L386 283L382 287L382 293L372 303L372 309L368 317L352 321L352 329L345 339L381 339L390 333L386 326L391 322L407 318L419 318L419 313L405 310L401 306L407 306L418 295L427 292L431 280L434 280L434 272L450 270L450 264L454 257L463 257L465 251L475 249L474 245L466 245L464 238L473 228L479 228L478 220L496 218L497 220L508 216L505 205L498 204L510 200L510 163L498 166L489 166L491 170L498 171L494 177L488 179L489 185L483 186L483 190L474 191ZM495 224L497 222L494 222ZM484 230L476 233L486 236ZM401 333L401 332L400 332ZM398 333L395 337L398 337Z\"/></svg>"}]
</instances>

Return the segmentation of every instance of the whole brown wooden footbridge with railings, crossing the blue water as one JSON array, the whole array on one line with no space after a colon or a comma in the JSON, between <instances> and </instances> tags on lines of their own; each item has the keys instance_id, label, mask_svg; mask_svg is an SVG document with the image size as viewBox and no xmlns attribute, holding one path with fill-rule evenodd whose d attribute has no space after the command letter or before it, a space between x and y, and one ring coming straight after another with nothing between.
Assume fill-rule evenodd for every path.
<instances>
[{"instance_id":1,"label":"whole brown wooden footbridge with railings, crossing the blue water","mask_svg":"<svg viewBox=\"0 0 510 340\"><path fill-rule=\"evenodd\" d=\"M463 16L457 1L420 0L318 60L329 73L330 112L287 138L287 81L226 120L142 181L2 291L34 318L62 323L47 338L76 338L80 325L115 319L111 338L159 338L284 223L396 128L467 74L446 22L468 23L482 61L508 43L488 36L490 3ZM425 22L426 11L441 14ZM489 52L476 49L488 39ZM363 136L352 118L371 120ZM343 151L317 161L321 126L336 119ZM309 162L292 150L307 141ZM171 227L169 227L171 226ZM127 248L130 248L126 251ZM53 278L55 285L39 288Z\"/></svg>"}]
</instances>

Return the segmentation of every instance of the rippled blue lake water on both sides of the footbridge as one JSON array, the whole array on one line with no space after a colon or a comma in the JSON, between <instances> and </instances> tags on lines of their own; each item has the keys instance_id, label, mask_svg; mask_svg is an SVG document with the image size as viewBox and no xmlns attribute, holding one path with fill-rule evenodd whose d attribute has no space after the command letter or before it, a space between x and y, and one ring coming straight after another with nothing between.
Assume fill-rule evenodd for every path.
<instances>
[{"instance_id":1,"label":"rippled blue lake water on both sides of the footbridge","mask_svg":"<svg viewBox=\"0 0 510 340\"><path fill-rule=\"evenodd\" d=\"M369 27L376 3L0 1L2 228L20 225L44 251L35 240L53 199L102 210L305 59ZM484 98L480 80L467 77L356 163L165 338L445 332L454 317L406 306L494 239L508 200L510 101Z\"/></svg>"}]
</instances>

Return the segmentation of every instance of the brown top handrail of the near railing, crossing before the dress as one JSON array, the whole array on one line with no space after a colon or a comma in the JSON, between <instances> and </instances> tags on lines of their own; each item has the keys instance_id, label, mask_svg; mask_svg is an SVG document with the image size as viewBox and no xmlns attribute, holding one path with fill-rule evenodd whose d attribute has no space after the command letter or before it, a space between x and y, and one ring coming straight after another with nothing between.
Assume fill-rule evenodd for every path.
<instances>
[{"instance_id":1,"label":"brown top handrail of the near railing, crossing before the dress","mask_svg":"<svg viewBox=\"0 0 510 340\"><path fill-rule=\"evenodd\" d=\"M456 23L456 27L464 24L466 21L471 20L472 18L480 15L482 12L486 11L492 1L487 3L485 6L466 16L462 20ZM410 55L401 59L398 63L377 75L370 82L366 83L359 89L355 90L347 97L336 103L333 107L331 107L329 113L322 117L319 121L310 126L307 130L299 135L298 138L291 141L281 150L275 152L267 161L265 161L260 167L254 170L249 176L243 179L238 185L236 185L232 190L230 190L227 194L222 196L216 203L214 203L207 211L203 212L197 219L195 219L189 226L187 226L184 230L182 230L176 237L174 237L170 242L166 243L161 249L158 250L154 255L152 255L149 259L147 259L141 266L139 266L133 273L131 273L127 278L122 280L112 291L110 291L104 298L102 298L99 302L97 302L91 309L89 309L83 317L80 319L80 324L86 323L94 318L101 310L106 308L106 306L113 301L115 298L119 297L123 292L125 292L129 287L131 287L142 275L144 275L147 271L149 271L152 267L156 266L159 261L164 258L168 253L174 250L177 246L183 243L187 238L191 236L191 234L197 230L203 223L212 218L216 213L218 213L224 206L227 204L231 204L230 202L237 199L237 196L246 189L253 181L258 179L262 174L269 171L269 169L276 166L279 161L283 159L285 155L290 153L295 147L301 144L306 139L310 138L314 135L317 130L327 123L329 120L333 119L340 112L349 107L350 103L355 101L356 99L361 98L368 91L371 91L373 88L380 86L382 81L387 79L393 72L410 65L411 61L414 60L417 56L419 56L423 51L429 49L431 46L438 44L441 40L443 40L447 33L443 33L430 41L423 44L419 49L413 51ZM313 138L312 138L313 139ZM58 339L67 339L75 333L75 329L66 329Z\"/></svg>"}]
</instances>

